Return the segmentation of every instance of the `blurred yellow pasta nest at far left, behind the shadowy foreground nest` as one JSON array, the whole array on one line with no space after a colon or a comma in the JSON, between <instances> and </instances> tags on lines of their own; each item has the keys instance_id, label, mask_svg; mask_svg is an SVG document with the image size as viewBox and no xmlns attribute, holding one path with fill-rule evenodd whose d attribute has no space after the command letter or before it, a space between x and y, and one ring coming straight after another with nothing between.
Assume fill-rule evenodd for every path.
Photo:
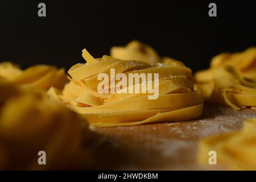
<instances>
[{"instance_id":1,"label":"blurred yellow pasta nest at far left, behind the shadowy foreground nest","mask_svg":"<svg viewBox=\"0 0 256 182\"><path fill-rule=\"evenodd\" d=\"M58 70L49 65L35 65L23 71L10 62L0 63L0 77L16 85L30 85L45 90L51 86L63 89L68 81L63 68Z\"/></svg>"}]
</instances>

